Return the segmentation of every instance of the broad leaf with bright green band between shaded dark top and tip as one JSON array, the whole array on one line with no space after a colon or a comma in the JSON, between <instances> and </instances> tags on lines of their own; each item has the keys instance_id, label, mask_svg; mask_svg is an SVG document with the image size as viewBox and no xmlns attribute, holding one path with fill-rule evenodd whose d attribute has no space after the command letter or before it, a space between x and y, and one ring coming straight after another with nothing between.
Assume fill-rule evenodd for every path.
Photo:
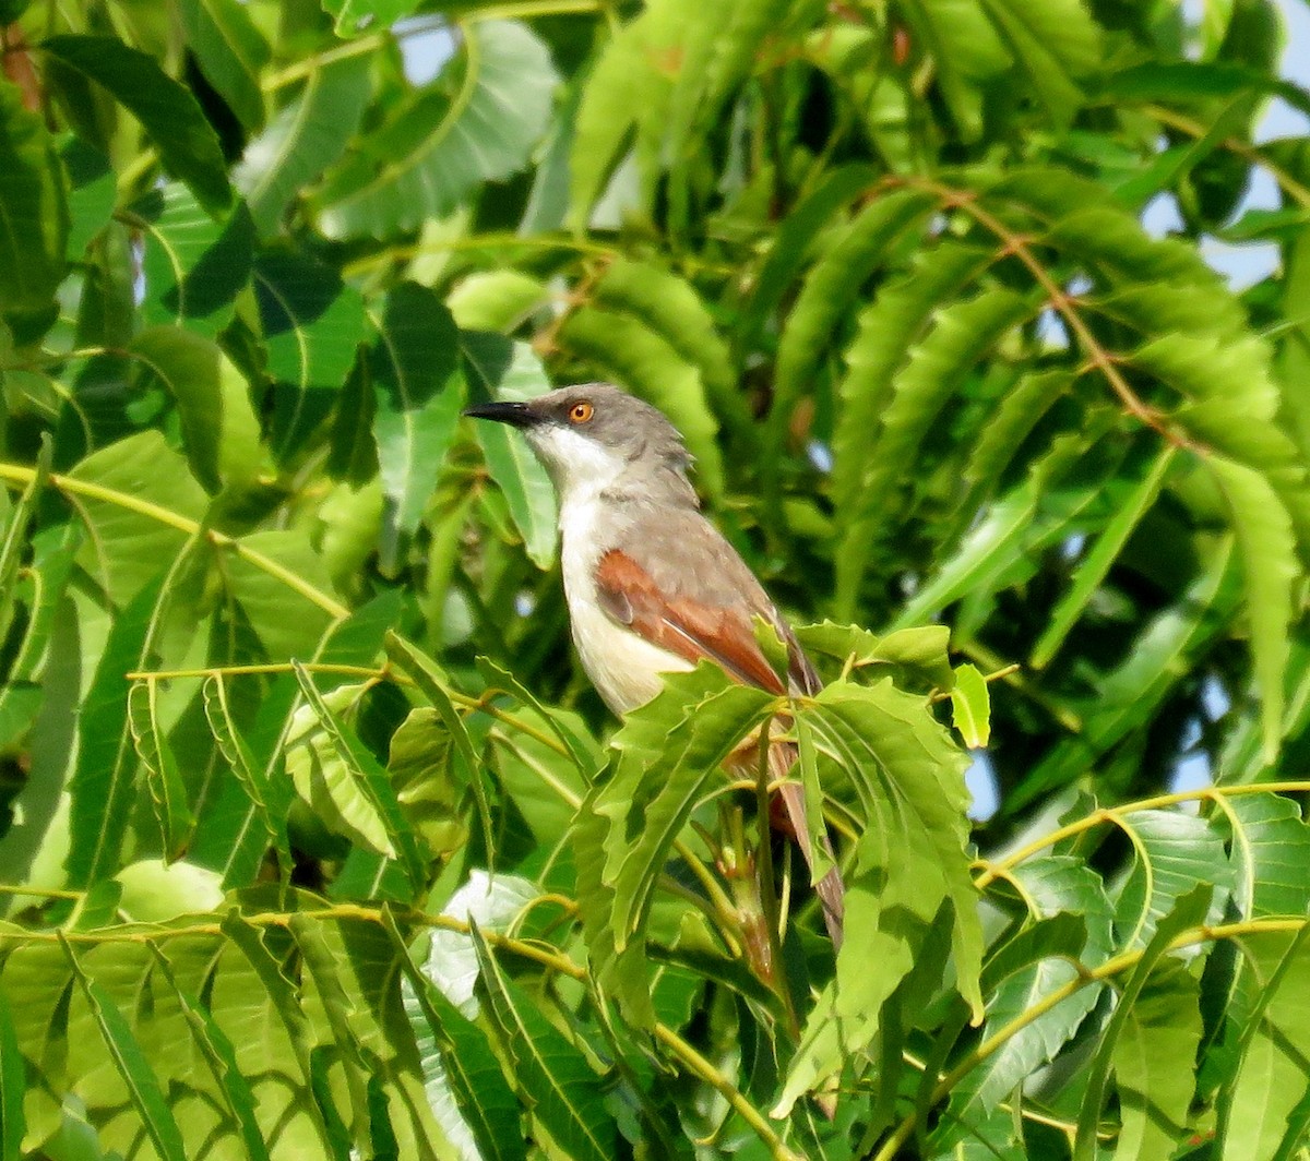
<instances>
[{"instance_id":1,"label":"broad leaf with bright green band between shaded dark top and tip","mask_svg":"<svg viewBox=\"0 0 1310 1161\"><path fill-rule=\"evenodd\" d=\"M274 381L272 448L284 461L303 453L335 404L364 336L364 302L299 253L261 254L254 291Z\"/></svg>"}]
</instances>

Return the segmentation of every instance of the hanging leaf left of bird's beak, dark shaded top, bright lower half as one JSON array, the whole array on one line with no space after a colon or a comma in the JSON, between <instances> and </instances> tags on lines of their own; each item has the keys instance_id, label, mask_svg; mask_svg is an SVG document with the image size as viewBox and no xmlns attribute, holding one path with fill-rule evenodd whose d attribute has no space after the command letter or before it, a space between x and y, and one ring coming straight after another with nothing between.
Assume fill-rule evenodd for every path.
<instances>
[{"instance_id":1,"label":"hanging leaf left of bird's beak, dark shaded top, bright lower half","mask_svg":"<svg viewBox=\"0 0 1310 1161\"><path fill-rule=\"evenodd\" d=\"M401 283L386 296L377 330L373 437L386 496L381 568L390 573L401 545L423 518L434 467L455 441L464 393L457 380L458 331L432 291Z\"/></svg>"}]
</instances>

